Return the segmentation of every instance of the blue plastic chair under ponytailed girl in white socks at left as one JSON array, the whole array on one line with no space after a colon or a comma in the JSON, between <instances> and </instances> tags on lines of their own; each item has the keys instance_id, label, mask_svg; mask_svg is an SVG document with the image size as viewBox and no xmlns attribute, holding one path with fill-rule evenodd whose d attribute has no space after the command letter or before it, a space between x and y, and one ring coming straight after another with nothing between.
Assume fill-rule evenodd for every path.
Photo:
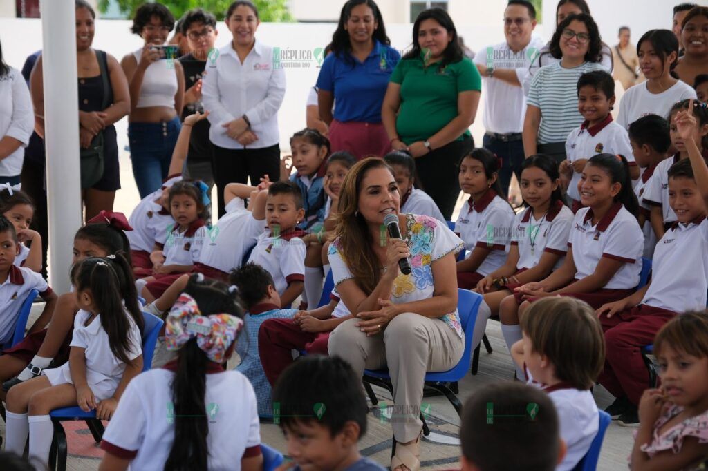
<instances>
[{"instance_id":1,"label":"blue plastic chair under ponytailed girl in white socks at left","mask_svg":"<svg viewBox=\"0 0 708 471\"><path fill-rule=\"evenodd\" d=\"M148 371L152 367L157 336L164 322L150 313L142 313L142 318L145 323L142 335L142 371ZM66 471L67 469L67 434L64 432L62 421L84 420L96 443L100 443L103 438L105 429L103 422L96 419L96 409L84 412L78 406L60 407L52 410L50 417L54 424L54 438L49 453L49 465L52 470Z\"/></svg>"}]
</instances>

